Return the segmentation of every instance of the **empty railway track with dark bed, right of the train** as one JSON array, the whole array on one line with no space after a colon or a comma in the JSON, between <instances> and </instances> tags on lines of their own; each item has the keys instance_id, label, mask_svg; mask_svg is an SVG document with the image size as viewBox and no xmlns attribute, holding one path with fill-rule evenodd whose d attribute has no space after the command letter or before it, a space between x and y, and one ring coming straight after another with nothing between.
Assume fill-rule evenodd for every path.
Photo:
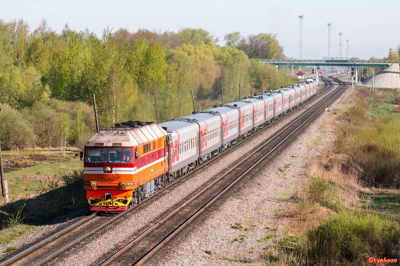
<instances>
[{"instance_id":1,"label":"empty railway track with dark bed, right of the train","mask_svg":"<svg viewBox=\"0 0 400 266\"><path fill-rule=\"evenodd\" d=\"M285 144L296 137L300 129L307 127L324 107L346 88L346 84L337 78L338 89L326 95L294 121L284 126L274 137L266 141L240 163L220 175L201 191L190 197L164 218L138 235L132 242L118 250L101 266L106 265L153 265L161 256L161 250L168 250L178 244L188 232L194 230L224 200L239 189L252 174L262 168L267 160L284 148ZM325 79L327 87L333 83Z\"/></svg>"}]
</instances>

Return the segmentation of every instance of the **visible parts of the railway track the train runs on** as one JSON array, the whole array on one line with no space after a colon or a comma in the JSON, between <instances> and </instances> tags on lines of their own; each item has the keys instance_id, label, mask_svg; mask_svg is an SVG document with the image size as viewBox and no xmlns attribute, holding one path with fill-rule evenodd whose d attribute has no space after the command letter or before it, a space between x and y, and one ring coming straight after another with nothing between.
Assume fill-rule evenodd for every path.
<instances>
[{"instance_id":1,"label":"visible parts of the railway track the train runs on","mask_svg":"<svg viewBox=\"0 0 400 266\"><path fill-rule=\"evenodd\" d=\"M316 93L316 97L318 95L324 93L325 91L331 89L333 87L332 82L328 81L327 79L322 79L326 83L326 85ZM305 105L300 106L298 109L304 108ZM285 116L284 116L285 117ZM280 119L276 120L279 121ZM276 123L274 121L273 123ZM273 124L271 123L271 124ZM268 127L264 127L262 130L266 129ZM260 131L262 131L260 130ZM259 132L260 132L259 131ZM244 139L238 145L235 145L231 149L228 149L222 154L227 154L230 152L233 152L236 147L240 147L250 139L254 138L257 134L253 134L250 137ZM215 159L220 158L220 156L215 157L214 159L207 161L206 163L200 165L197 167L196 170L201 169L203 167L206 167L209 163L213 162ZM184 175L183 178L190 177L190 175L194 174L196 171L191 171L188 174ZM172 185L176 184L177 182L181 181L182 177L180 179L176 179L172 181L171 183L168 184L168 187L172 187ZM158 191L160 192L160 191ZM158 193L155 193L154 195L157 195ZM154 197L152 195L152 197ZM152 197L149 197L145 200L142 200L142 204ZM78 222L75 222L74 224L64 228L60 232L57 232L56 234L53 234L52 236L42 240L41 242L38 242L34 246L31 246L30 248L16 254L15 256L9 258L8 260L2 262L0 266L8 266L8 265L42 265L50 260L52 260L54 257L58 256L62 252L66 251L68 248L74 246L75 244L82 242L82 240L88 238L89 236L92 236L94 233L99 232L106 226L112 224L113 222L116 222L129 212L132 212L135 210L138 206L140 205L134 205L132 208L129 208L128 210L124 212L120 212L118 214L114 215L104 215L101 214L100 212L94 212L93 214L87 216L86 218L83 218L82 220L79 220Z\"/></svg>"}]
</instances>

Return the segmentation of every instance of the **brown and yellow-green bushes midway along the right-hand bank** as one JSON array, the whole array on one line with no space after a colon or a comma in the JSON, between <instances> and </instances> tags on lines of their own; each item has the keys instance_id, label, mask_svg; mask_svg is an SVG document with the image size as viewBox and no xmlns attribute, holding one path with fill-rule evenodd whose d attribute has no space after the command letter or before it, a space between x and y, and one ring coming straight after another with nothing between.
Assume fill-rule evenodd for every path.
<instances>
[{"instance_id":1,"label":"brown and yellow-green bushes midway along the right-hand bank","mask_svg":"<svg viewBox=\"0 0 400 266\"><path fill-rule=\"evenodd\" d=\"M349 156L346 165L358 168L363 184L399 186L400 119L395 116L367 117L357 106L348 109L345 114L350 121L340 125L336 149L338 153Z\"/></svg>"}]
</instances>

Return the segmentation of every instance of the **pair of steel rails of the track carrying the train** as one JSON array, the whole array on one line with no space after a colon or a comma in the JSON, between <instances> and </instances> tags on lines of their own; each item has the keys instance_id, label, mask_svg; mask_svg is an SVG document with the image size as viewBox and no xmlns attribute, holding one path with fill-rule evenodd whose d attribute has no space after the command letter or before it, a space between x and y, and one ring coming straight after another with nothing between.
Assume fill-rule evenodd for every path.
<instances>
[{"instance_id":1,"label":"pair of steel rails of the track carrying the train","mask_svg":"<svg viewBox=\"0 0 400 266\"><path fill-rule=\"evenodd\" d=\"M324 80L324 79L323 79ZM325 87L323 87L320 91L318 91L315 96L320 95L322 92L326 91L326 89L330 89L332 87L332 83L326 83ZM304 107L304 104L299 106L298 108L294 109L293 111L296 111L298 109L301 109L302 107ZM311 107L310 107L311 108ZM282 117L286 117L286 115L282 116ZM270 125L274 124L276 121L279 121L280 119L282 119L282 117L279 117L278 119L276 119L275 121L272 121L270 124L268 124L266 127L260 129L257 133L263 131L264 129L266 129L267 127L269 127ZM239 145L234 145L232 148L227 149L226 151L233 151L236 147L240 147L242 146L244 143L246 143L248 140L254 138L256 135L256 133L250 135L249 137L247 137L246 139L243 139L243 141L241 141L240 143L238 143ZM171 187L174 183L177 183L178 181L181 181L183 178L187 178L189 176L191 176L192 174L194 174L196 172L196 170L199 170L203 167L206 167L209 163L213 162L215 159L220 158L219 156L216 156L212 159L210 159L209 161L206 161L205 163L203 163L202 165L200 165L199 167L197 167L195 169L195 171L190 171L187 174L183 175L182 177L175 179L174 181L168 183L167 187ZM162 190L160 190L162 191ZM150 197L144 199L141 201L141 203L147 201L148 199L154 197L156 194L158 194L160 191L157 191L156 193L154 193L153 195L151 195ZM89 232L86 232L84 234L82 234L81 236L79 236L78 238L72 240L71 242L69 242L68 244L58 248L56 251L52 252L51 254L49 254L48 256L46 256L45 258L42 258L40 260L40 258L38 258L38 262L36 262L33 265L42 265L45 262L51 260L52 258L54 258L55 256L57 256L58 254L62 253L63 251L65 251L66 249L72 247L74 244L77 244L78 242L81 242L82 240L86 239L87 237L93 235L95 232L98 232L99 230L103 229L105 226L111 224L112 222L115 222L116 220L118 220L119 218L121 218L122 216L128 214L130 211L134 210L137 206L139 206L140 204L136 204L134 205L132 208L129 208L128 210L125 210L123 212L120 212L119 214L116 214L115 216L113 216L112 218L108 219L107 221L105 221L104 223L96 226L95 228L93 228L92 230L90 230ZM8 260L2 262L0 264L0 266L8 266L8 265L12 265L14 263L17 263L19 260L21 260L22 258L28 256L29 254L31 254L32 252L35 252L37 250L39 250L40 248L46 246L47 244L57 240L58 238L60 238L61 236L64 236L65 234L68 234L69 232L71 232L72 230L74 230L75 228L77 228L78 226L83 226L84 224L86 224L87 222L91 221L93 218L95 218L98 215L98 212L95 212L93 214L91 214L90 216L87 216L86 218L83 218L77 222L75 222L74 224L68 226L67 228L62 229L60 232L57 232L55 234L53 234L52 236L42 240L41 242L35 244L34 246L16 254L15 256L9 258Z\"/></svg>"}]
</instances>

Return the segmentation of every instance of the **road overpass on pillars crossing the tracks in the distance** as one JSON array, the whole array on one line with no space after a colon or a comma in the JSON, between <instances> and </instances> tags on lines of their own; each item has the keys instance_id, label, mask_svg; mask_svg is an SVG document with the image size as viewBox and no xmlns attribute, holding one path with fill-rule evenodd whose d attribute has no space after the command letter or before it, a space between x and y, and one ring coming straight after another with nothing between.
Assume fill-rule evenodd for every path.
<instances>
[{"instance_id":1,"label":"road overpass on pillars crossing the tracks in the distance","mask_svg":"<svg viewBox=\"0 0 400 266\"><path fill-rule=\"evenodd\" d=\"M358 68L361 66L368 67L388 67L391 64L400 64L400 61L390 60L348 60L348 58L323 58L322 60L304 59L304 60L286 60L286 59L249 59L250 61L260 62L261 64L273 65L273 66L348 66L354 67L356 83L358 80ZM316 82L319 84L319 73L316 71Z\"/></svg>"}]
</instances>

